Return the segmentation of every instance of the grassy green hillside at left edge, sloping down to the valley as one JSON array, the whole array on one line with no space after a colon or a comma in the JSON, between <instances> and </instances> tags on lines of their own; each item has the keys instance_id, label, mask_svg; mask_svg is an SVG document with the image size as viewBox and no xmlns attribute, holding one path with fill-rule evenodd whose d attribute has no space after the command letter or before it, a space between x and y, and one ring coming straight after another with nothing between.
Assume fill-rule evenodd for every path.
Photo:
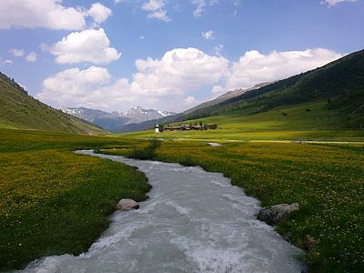
<instances>
[{"instance_id":1,"label":"grassy green hillside at left edge, sloping down to the valley","mask_svg":"<svg viewBox=\"0 0 364 273\"><path fill-rule=\"evenodd\" d=\"M0 73L0 128L105 135L103 129L56 110L29 96L22 86Z\"/></svg>"}]
</instances>

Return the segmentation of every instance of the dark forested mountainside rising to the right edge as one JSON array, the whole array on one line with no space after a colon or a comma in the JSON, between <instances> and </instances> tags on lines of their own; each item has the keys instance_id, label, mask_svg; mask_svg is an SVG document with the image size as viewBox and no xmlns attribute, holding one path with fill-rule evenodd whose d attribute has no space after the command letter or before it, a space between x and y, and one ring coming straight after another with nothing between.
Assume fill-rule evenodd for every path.
<instances>
[{"instance_id":1,"label":"dark forested mountainside rising to the right edge","mask_svg":"<svg viewBox=\"0 0 364 273\"><path fill-rule=\"evenodd\" d=\"M178 120L207 116L248 116L283 106L325 102L329 126L364 128L364 50L344 56L329 65L188 113ZM332 119L332 113L336 113ZM274 119L275 116L272 116Z\"/></svg>"}]
</instances>

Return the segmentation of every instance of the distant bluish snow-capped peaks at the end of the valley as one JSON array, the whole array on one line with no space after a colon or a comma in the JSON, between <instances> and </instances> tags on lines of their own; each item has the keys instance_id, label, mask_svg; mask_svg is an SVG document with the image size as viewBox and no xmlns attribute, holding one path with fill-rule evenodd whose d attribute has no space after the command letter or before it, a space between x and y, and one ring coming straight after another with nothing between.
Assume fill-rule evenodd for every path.
<instances>
[{"instance_id":1,"label":"distant bluish snow-capped peaks at the end of the valley","mask_svg":"<svg viewBox=\"0 0 364 273\"><path fill-rule=\"evenodd\" d=\"M115 131L128 124L144 122L176 114L173 112L146 109L141 106L135 106L134 108L121 113L109 113L85 107L64 107L61 110L69 115L79 117L100 126L107 131Z\"/></svg>"}]
</instances>

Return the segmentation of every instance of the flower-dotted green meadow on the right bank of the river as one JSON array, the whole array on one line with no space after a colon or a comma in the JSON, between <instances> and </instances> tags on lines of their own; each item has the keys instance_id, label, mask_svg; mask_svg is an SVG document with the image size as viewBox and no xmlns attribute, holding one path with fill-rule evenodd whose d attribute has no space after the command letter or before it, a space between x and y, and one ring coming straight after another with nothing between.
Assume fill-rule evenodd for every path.
<instances>
[{"instance_id":1,"label":"flower-dotted green meadow on the right bank of the river","mask_svg":"<svg viewBox=\"0 0 364 273\"><path fill-rule=\"evenodd\" d=\"M108 151L131 155L132 147ZM364 271L364 147L295 143L163 141L156 160L224 173L258 197L262 206L298 202L300 210L278 225L305 248L312 272Z\"/></svg>"}]
</instances>

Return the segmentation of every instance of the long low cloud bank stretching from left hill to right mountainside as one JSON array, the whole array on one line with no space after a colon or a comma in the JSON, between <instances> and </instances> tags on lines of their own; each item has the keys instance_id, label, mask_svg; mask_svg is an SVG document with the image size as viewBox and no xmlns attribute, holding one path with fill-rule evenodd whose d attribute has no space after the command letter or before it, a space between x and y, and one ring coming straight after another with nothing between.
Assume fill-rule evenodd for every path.
<instances>
[{"instance_id":1,"label":"long low cloud bank stretching from left hill to right mountainside","mask_svg":"<svg viewBox=\"0 0 364 273\"><path fill-rule=\"evenodd\" d=\"M43 82L39 99L57 106L121 110L134 105L182 111L209 88L215 96L323 66L341 55L328 49L246 52L238 61L209 56L197 48L175 48L161 58L137 59L131 78L111 81L106 68L66 69ZM198 94L198 96L197 96ZM208 96L208 95L207 95ZM207 99L208 97L206 97Z\"/></svg>"}]
</instances>

